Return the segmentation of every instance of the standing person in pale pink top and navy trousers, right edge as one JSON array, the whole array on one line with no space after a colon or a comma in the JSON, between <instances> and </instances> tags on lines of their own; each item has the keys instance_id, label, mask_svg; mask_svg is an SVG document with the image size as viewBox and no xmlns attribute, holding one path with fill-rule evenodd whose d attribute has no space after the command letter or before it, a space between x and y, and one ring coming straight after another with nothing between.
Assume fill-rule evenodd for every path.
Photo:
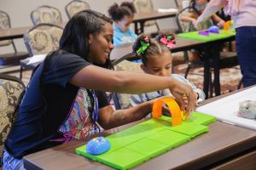
<instances>
[{"instance_id":1,"label":"standing person in pale pink top and navy trousers, right edge","mask_svg":"<svg viewBox=\"0 0 256 170\"><path fill-rule=\"evenodd\" d=\"M256 84L256 1L211 0L195 25L224 7L225 14L233 15L236 28L236 51L241 66L243 87Z\"/></svg>"}]
</instances>

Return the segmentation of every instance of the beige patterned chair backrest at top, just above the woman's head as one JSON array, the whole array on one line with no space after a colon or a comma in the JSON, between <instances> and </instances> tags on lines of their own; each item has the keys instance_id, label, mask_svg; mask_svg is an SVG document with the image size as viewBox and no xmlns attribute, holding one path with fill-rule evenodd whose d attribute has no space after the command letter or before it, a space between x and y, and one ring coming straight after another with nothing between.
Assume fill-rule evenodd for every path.
<instances>
[{"instance_id":1,"label":"beige patterned chair backrest at top, just above the woman's head","mask_svg":"<svg viewBox=\"0 0 256 170\"><path fill-rule=\"evenodd\" d=\"M73 0L67 3L65 10L69 19L73 17L74 14L79 13L82 10L90 9L89 3L80 0Z\"/></svg>"}]
</instances>

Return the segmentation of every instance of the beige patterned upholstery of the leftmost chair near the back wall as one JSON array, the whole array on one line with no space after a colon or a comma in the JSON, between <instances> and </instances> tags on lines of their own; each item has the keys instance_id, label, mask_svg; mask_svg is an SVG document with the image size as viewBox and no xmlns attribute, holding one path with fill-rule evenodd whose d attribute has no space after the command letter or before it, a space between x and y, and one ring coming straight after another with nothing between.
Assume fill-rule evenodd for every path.
<instances>
[{"instance_id":1,"label":"beige patterned upholstery of the leftmost chair near the back wall","mask_svg":"<svg viewBox=\"0 0 256 170\"><path fill-rule=\"evenodd\" d=\"M3 11L0 11L0 30L6 30L10 28L9 15ZM11 40L0 41L0 46L7 46L11 44Z\"/></svg>"}]
</instances>

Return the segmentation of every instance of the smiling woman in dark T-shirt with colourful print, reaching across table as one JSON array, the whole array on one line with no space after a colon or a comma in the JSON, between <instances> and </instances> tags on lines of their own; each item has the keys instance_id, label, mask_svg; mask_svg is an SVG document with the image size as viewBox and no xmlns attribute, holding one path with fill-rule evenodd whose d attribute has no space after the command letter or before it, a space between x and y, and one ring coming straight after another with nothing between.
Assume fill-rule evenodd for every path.
<instances>
[{"instance_id":1,"label":"smiling woman in dark T-shirt with colourful print, reaching across table","mask_svg":"<svg viewBox=\"0 0 256 170\"><path fill-rule=\"evenodd\" d=\"M170 88L181 105L185 94L187 111L194 110L192 88L172 77L108 70L112 38L112 20L96 11L84 10L67 22L59 49L48 54L26 89L4 144L4 170L24 169L23 156L98 133L97 123L118 127L152 110L153 101L113 111L105 94L95 90L137 94Z\"/></svg>"}]
</instances>

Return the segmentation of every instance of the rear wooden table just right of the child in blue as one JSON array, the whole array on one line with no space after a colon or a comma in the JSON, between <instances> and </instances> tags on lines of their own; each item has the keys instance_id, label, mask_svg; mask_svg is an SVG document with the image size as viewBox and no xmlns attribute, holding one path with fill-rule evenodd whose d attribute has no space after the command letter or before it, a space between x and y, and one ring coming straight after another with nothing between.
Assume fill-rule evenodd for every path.
<instances>
[{"instance_id":1,"label":"rear wooden table just right of the child in blue","mask_svg":"<svg viewBox=\"0 0 256 170\"><path fill-rule=\"evenodd\" d=\"M134 32L137 35L144 32L144 23L148 20L158 20L175 17L176 14L177 12L159 13L157 11L153 11L150 13L136 13L134 14L134 18L132 21L134 23ZM140 29L138 28L138 24L140 25Z\"/></svg>"}]
</instances>

